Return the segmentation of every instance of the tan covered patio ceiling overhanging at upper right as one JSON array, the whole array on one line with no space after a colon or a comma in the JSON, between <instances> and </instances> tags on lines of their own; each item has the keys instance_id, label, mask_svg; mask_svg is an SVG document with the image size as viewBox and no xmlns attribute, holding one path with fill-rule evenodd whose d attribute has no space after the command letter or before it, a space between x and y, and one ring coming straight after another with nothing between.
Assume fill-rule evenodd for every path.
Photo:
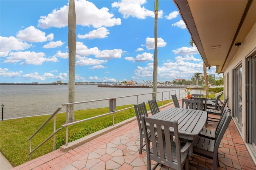
<instances>
[{"instance_id":1,"label":"tan covered patio ceiling overhanging at upper right","mask_svg":"<svg viewBox=\"0 0 256 170\"><path fill-rule=\"evenodd\" d=\"M174 3L206 66L216 66L216 72L223 72L256 22L256 1L174 0ZM236 47L236 43L242 45Z\"/></svg>"}]
</instances>

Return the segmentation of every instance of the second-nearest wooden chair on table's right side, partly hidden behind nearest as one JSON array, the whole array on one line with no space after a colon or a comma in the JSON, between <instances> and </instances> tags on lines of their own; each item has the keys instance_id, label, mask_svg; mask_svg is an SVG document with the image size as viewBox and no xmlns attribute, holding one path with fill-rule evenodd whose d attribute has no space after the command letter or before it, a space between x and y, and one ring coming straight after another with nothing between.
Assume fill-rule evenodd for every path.
<instances>
[{"instance_id":1,"label":"second-nearest wooden chair on table's right side, partly hidden behind nearest","mask_svg":"<svg viewBox=\"0 0 256 170\"><path fill-rule=\"evenodd\" d=\"M215 130L203 128L199 136L215 139L216 131L218 131L218 129L222 126L222 123L224 123L224 117L226 117L226 115L228 114L228 111L230 111L230 108L227 106L224 113L221 115L220 121L218 122Z\"/></svg>"}]
</instances>

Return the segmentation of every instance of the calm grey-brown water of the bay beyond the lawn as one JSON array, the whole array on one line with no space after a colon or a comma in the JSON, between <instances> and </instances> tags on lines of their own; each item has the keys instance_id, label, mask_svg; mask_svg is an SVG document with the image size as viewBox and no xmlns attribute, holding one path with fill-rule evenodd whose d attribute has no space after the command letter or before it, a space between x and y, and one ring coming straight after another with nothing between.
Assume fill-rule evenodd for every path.
<instances>
[{"instance_id":1,"label":"calm grey-brown water of the bay beyond the lawn","mask_svg":"<svg viewBox=\"0 0 256 170\"><path fill-rule=\"evenodd\" d=\"M158 88L158 92L169 90L177 89ZM152 88L99 88L91 85L77 85L75 86L75 102L130 96L134 94L145 94L151 92ZM180 90L180 92L182 93L182 90ZM200 93L200 90L193 90L193 92ZM177 93L178 91L176 94ZM201 91L201 93L203 92ZM174 92L172 94L174 94ZM164 97L168 96L169 92L165 92ZM151 98L151 94L140 96L139 103L147 102L148 100L151 100ZM157 98L162 98L162 94L158 93ZM60 112L66 112L66 106L62 106L62 104L68 103L68 85L1 85L0 100L0 105L4 104L4 119L51 114L58 107L62 107ZM116 106L136 103L136 96L116 99ZM75 110L108 107L108 105L108 101L93 102L90 104L78 104L75 105ZM0 117L2 120L2 109Z\"/></svg>"}]
</instances>

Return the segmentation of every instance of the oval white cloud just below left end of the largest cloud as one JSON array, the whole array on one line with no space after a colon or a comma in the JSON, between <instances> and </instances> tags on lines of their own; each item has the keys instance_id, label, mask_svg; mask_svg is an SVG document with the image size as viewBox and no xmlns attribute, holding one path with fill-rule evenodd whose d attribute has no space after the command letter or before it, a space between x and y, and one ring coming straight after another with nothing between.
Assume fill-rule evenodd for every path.
<instances>
[{"instance_id":1,"label":"oval white cloud just below left end of the largest cloud","mask_svg":"<svg viewBox=\"0 0 256 170\"><path fill-rule=\"evenodd\" d=\"M44 42L47 40L52 40L53 34L45 36L45 33L39 29L36 29L34 26L30 26L25 28L24 30L20 30L16 35L18 39L23 41L29 41L32 43Z\"/></svg>"}]
</instances>

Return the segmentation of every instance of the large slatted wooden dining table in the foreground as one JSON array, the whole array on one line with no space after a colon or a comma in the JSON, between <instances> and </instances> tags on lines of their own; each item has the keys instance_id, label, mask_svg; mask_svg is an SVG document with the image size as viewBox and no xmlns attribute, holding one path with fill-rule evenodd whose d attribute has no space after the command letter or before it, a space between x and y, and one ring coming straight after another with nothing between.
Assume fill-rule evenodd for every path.
<instances>
[{"instance_id":1,"label":"large slatted wooden dining table in the foreground","mask_svg":"<svg viewBox=\"0 0 256 170\"><path fill-rule=\"evenodd\" d=\"M170 107L151 117L162 120L177 120L179 137L194 140L206 123L207 111ZM170 128L170 135L174 136L173 128Z\"/></svg>"}]
</instances>

